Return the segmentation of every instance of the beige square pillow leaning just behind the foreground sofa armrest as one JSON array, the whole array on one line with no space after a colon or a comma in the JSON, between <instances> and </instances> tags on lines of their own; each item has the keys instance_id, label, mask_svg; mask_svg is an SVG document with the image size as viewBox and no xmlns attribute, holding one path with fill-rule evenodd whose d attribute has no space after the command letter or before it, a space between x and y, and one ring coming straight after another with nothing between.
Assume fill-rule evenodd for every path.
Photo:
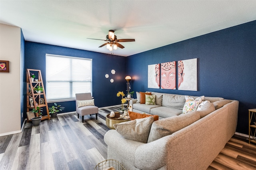
<instances>
[{"instance_id":1,"label":"beige square pillow leaning just behind the foreground sofa armrest","mask_svg":"<svg viewBox=\"0 0 256 170\"><path fill-rule=\"evenodd\" d=\"M154 118L152 116L114 124L116 131L124 138L146 143Z\"/></svg>"}]
</instances>

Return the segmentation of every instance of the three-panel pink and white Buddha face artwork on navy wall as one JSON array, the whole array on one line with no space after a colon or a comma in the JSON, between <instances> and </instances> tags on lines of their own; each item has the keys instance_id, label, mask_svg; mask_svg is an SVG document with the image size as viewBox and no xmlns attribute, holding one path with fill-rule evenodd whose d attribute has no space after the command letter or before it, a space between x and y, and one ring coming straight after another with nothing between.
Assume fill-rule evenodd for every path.
<instances>
[{"instance_id":1,"label":"three-panel pink and white Buddha face artwork on navy wall","mask_svg":"<svg viewBox=\"0 0 256 170\"><path fill-rule=\"evenodd\" d=\"M197 59L178 61L177 71L176 61L148 65L148 88L197 91Z\"/></svg>"}]
</instances>

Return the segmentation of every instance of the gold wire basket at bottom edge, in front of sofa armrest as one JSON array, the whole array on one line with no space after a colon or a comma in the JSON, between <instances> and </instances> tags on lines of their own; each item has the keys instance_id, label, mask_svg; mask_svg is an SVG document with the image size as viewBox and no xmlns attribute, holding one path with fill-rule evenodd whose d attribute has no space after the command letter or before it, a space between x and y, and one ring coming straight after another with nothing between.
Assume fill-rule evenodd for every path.
<instances>
[{"instance_id":1,"label":"gold wire basket at bottom edge, in front of sofa armrest","mask_svg":"<svg viewBox=\"0 0 256 170\"><path fill-rule=\"evenodd\" d=\"M122 164L120 164L120 162L118 162L117 160L114 160L114 159L108 159L108 160L104 160L104 161L98 163L98 165L96 165L94 167L94 170L106 170L110 167L113 167L116 170L126 170L124 168L124 166L122 166Z\"/></svg>"}]
</instances>

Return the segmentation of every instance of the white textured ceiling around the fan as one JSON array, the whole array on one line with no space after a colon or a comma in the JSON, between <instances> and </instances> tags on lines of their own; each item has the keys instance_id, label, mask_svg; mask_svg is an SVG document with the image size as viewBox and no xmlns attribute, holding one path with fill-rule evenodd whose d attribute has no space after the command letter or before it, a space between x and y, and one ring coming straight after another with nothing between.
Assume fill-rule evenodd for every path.
<instances>
[{"instance_id":1,"label":"white textured ceiling around the fan","mask_svg":"<svg viewBox=\"0 0 256 170\"><path fill-rule=\"evenodd\" d=\"M0 0L0 23L22 28L26 41L108 53L115 30L129 56L256 20L256 0Z\"/></svg>"}]
</instances>

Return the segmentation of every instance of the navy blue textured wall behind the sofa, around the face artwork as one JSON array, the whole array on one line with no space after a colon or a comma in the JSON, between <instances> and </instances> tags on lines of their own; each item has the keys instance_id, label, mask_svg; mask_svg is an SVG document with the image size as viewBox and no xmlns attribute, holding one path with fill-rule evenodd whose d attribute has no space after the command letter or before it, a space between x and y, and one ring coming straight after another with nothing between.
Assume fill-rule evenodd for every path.
<instances>
[{"instance_id":1,"label":"navy blue textured wall behind the sofa, around the face artwork","mask_svg":"<svg viewBox=\"0 0 256 170\"><path fill-rule=\"evenodd\" d=\"M198 58L198 91L148 88L148 65L193 58ZM238 100L236 131L248 134L248 109L256 108L255 63L256 21L253 21L129 56L126 68L132 76L134 91Z\"/></svg>"}]
</instances>

